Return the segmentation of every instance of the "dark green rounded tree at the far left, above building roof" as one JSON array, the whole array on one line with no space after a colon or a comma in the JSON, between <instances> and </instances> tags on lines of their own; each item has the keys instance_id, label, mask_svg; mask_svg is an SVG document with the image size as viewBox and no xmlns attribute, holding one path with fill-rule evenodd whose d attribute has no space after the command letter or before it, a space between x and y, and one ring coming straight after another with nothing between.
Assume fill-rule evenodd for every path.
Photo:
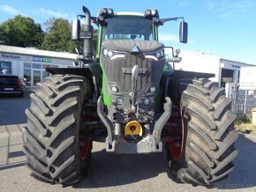
<instances>
[{"instance_id":1,"label":"dark green rounded tree at the far left, above building roof","mask_svg":"<svg viewBox=\"0 0 256 192\"><path fill-rule=\"evenodd\" d=\"M0 24L0 44L39 48L42 39L41 25L33 18L18 15Z\"/></svg>"}]
</instances>

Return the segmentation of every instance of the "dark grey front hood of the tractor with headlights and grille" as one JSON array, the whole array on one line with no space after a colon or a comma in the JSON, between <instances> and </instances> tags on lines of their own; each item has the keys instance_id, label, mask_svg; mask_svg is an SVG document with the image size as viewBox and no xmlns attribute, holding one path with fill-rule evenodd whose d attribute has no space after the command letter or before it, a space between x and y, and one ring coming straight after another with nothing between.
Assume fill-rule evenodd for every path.
<instances>
[{"instance_id":1,"label":"dark grey front hood of the tractor with headlights and grille","mask_svg":"<svg viewBox=\"0 0 256 192\"><path fill-rule=\"evenodd\" d=\"M157 41L102 42L103 99L111 122L154 122L154 100L165 64L163 48Z\"/></svg>"}]
</instances>

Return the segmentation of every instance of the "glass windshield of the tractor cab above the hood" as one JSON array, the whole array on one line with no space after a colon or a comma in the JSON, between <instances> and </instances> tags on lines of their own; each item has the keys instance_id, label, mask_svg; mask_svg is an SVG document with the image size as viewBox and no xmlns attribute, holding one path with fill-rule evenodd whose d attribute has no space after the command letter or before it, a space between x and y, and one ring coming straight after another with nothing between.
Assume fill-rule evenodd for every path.
<instances>
[{"instance_id":1,"label":"glass windshield of the tractor cab above the hood","mask_svg":"<svg viewBox=\"0 0 256 192\"><path fill-rule=\"evenodd\" d=\"M153 24L146 18L107 18L102 26L103 40L153 41Z\"/></svg>"}]
</instances>

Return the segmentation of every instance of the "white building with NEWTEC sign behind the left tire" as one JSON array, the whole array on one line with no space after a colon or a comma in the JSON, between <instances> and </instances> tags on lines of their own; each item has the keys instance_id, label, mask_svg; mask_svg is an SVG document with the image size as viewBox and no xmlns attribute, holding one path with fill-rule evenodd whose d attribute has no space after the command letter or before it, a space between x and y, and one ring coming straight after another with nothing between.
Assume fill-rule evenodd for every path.
<instances>
[{"instance_id":1,"label":"white building with NEWTEC sign behind the left tire","mask_svg":"<svg viewBox=\"0 0 256 192\"><path fill-rule=\"evenodd\" d=\"M26 78L28 85L35 85L49 76L46 68L71 67L76 58L75 54L0 45L0 73L18 75Z\"/></svg>"}]
</instances>

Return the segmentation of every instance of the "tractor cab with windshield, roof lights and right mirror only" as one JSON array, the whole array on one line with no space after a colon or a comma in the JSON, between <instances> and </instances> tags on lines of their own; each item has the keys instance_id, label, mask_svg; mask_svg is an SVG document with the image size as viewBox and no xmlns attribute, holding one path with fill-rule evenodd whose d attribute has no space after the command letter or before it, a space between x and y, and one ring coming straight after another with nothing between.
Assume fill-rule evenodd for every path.
<instances>
[{"instance_id":1,"label":"tractor cab with windshield, roof lights and right mirror only","mask_svg":"<svg viewBox=\"0 0 256 192\"><path fill-rule=\"evenodd\" d=\"M104 40L158 41L158 26L169 20L179 18L159 18L157 10L139 12L116 12L109 8L102 8L96 18L99 26L98 46ZM180 23L180 41L187 41L187 23ZM98 49L98 55L100 54Z\"/></svg>"}]
</instances>

